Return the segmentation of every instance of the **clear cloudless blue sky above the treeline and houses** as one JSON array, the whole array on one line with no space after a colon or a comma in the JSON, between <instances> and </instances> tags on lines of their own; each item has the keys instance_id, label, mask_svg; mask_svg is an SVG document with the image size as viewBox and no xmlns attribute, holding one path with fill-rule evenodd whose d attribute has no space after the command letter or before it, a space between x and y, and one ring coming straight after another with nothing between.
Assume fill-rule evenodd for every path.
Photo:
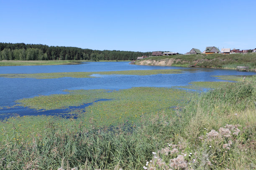
<instances>
[{"instance_id":1,"label":"clear cloudless blue sky above the treeline and houses","mask_svg":"<svg viewBox=\"0 0 256 170\"><path fill-rule=\"evenodd\" d=\"M256 0L0 0L0 42L93 50L256 48Z\"/></svg>"}]
</instances>

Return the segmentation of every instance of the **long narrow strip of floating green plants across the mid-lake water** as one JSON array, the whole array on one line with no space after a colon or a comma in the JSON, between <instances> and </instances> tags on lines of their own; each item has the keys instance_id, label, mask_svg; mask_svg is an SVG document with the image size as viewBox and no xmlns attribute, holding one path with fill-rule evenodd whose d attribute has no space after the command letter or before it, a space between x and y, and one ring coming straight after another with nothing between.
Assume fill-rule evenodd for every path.
<instances>
[{"instance_id":1,"label":"long narrow strip of floating green plants across the mid-lake water","mask_svg":"<svg viewBox=\"0 0 256 170\"><path fill-rule=\"evenodd\" d=\"M100 75L155 75L155 74L178 74L183 70L170 69L170 70L127 70L127 71L105 71L105 72L51 72L51 73L35 73L35 74L0 74L0 77L6 78L36 78L36 79L49 79L61 77L74 77L74 78L92 78L93 74Z\"/></svg>"}]
</instances>

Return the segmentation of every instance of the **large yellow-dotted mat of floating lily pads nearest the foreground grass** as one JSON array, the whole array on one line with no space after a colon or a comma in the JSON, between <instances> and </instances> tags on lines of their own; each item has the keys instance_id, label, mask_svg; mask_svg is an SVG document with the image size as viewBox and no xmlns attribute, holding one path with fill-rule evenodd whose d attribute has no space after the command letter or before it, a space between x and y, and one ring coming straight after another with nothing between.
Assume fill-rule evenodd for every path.
<instances>
[{"instance_id":1,"label":"large yellow-dotted mat of floating lily pads nearest the foreground grass","mask_svg":"<svg viewBox=\"0 0 256 170\"><path fill-rule=\"evenodd\" d=\"M17 100L19 105L34 109L53 110L67 108L74 105L82 105L99 99L94 104L73 110L69 114L76 115L77 119L66 119L58 116L23 116L11 117L3 120L0 139L9 136L14 140L29 138L31 133L40 134L47 129L49 123L56 128L65 128L72 125L88 127L110 127L126 124L136 126L145 116L154 117L159 112L165 112L166 116L175 115L175 110L187 103L191 92L164 87L135 87L125 90L69 90L68 94L38 96ZM51 104L49 104L51 103ZM19 136L19 138L17 138Z\"/></svg>"}]
</instances>

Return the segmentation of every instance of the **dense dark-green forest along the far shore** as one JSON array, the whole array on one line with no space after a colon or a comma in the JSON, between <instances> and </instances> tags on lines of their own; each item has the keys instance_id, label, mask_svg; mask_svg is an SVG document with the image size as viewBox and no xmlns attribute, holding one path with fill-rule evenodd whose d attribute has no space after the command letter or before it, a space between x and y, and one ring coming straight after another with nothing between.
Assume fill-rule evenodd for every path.
<instances>
[{"instance_id":1,"label":"dense dark-green forest along the far shore","mask_svg":"<svg viewBox=\"0 0 256 170\"><path fill-rule=\"evenodd\" d=\"M152 52L91 50L42 44L1 43L0 60L135 60Z\"/></svg>"}]
</instances>

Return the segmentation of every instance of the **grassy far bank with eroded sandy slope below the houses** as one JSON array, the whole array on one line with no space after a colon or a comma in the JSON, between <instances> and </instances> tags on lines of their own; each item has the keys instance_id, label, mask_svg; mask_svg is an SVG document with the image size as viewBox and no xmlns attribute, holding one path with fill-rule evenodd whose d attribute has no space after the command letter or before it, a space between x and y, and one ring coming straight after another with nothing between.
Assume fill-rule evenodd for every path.
<instances>
[{"instance_id":1,"label":"grassy far bank with eroded sandy slope below the houses","mask_svg":"<svg viewBox=\"0 0 256 170\"><path fill-rule=\"evenodd\" d=\"M256 70L256 53L247 54L200 54L200 55L171 55L150 57L135 62L137 65L212 67L236 69L237 66L248 66L251 71Z\"/></svg>"}]
</instances>

